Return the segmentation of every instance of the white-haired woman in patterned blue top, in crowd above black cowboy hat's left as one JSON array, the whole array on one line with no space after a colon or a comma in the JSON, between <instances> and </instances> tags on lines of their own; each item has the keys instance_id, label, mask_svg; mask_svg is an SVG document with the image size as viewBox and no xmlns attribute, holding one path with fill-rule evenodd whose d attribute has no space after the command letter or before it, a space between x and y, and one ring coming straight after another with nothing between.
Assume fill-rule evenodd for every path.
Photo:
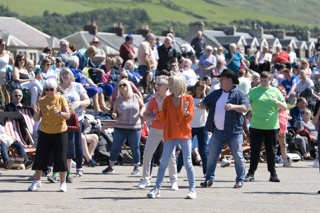
<instances>
[{"instance_id":1,"label":"white-haired woman in patterned blue top, in crowd above black cowboy hat's left","mask_svg":"<svg viewBox=\"0 0 320 213\"><path fill-rule=\"evenodd\" d=\"M206 46L205 54L199 58L199 76L203 80L205 75L212 77L212 71L217 66L217 58L212 54L212 46Z\"/></svg>"}]
</instances>

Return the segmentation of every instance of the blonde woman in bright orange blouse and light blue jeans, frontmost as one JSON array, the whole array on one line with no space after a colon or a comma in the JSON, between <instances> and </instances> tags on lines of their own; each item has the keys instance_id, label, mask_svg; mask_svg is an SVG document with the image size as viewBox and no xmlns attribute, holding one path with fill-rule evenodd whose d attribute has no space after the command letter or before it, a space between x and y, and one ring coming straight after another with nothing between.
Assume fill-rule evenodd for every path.
<instances>
[{"instance_id":1,"label":"blonde woman in bright orange blouse and light blue jeans, frontmost","mask_svg":"<svg viewBox=\"0 0 320 213\"><path fill-rule=\"evenodd\" d=\"M190 121L194 116L193 98L186 94L186 84L179 75L168 78L168 87L171 95L164 98L158 92L156 101L158 103L157 117L164 124L164 147L162 160L158 169L156 186L147 194L148 197L160 197L160 188L164 179L165 170L168 167L171 153L179 143L183 151L183 163L187 170L189 192L187 199L196 198L195 172L191 160L191 126Z\"/></svg>"}]
</instances>

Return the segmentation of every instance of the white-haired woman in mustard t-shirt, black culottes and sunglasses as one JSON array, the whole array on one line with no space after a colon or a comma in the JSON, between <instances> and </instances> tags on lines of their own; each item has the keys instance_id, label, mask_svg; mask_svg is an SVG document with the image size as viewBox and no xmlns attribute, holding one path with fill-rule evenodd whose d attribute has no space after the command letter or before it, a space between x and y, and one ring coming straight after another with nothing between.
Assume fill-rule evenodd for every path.
<instances>
[{"instance_id":1,"label":"white-haired woman in mustard t-shirt, black culottes and sunglasses","mask_svg":"<svg viewBox=\"0 0 320 213\"><path fill-rule=\"evenodd\" d=\"M68 126L66 120L70 117L68 103L65 97L57 94L57 81L47 79L44 82L45 96L40 98L37 104L33 104L35 114L33 119L39 121L40 130L36 156L32 170L36 170L36 178L28 187L34 191L41 187L41 174L47 170L48 158L53 149L53 172L60 174L60 192L67 191L66 174L67 150L68 150Z\"/></svg>"}]
</instances>

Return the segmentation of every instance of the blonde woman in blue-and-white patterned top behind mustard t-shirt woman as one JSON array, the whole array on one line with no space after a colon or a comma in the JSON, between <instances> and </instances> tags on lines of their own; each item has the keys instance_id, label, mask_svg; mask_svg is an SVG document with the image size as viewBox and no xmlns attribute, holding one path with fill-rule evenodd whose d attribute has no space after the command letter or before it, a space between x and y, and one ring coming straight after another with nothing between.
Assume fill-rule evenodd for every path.
<instances>
[{"instance_id":1,"label":"blonde woman in blue-and-white patterned top behind mustard t-shirt woman","mask_svg":"<svg viewBox=\"0 0 320 213\"><path fill-rule=\"evenodd\" d=\"M70 103L73 104L74 111L78 115L80 126L82 127L82 121L84 115L82 108L90 105L90 99L81 83L75 82L75 77L68 67L62 67L60 72L60 84L59 86L64 90L63 95L67 95ZM76 174L73 177L82 177L82 161L83 161L83 148L81 141L82 128L75 132L75 146L76 146ZM88 162L95 162L92 159L87 159ZM91 161L92 160L92 161Z\"/></svg>"}]
</instances>

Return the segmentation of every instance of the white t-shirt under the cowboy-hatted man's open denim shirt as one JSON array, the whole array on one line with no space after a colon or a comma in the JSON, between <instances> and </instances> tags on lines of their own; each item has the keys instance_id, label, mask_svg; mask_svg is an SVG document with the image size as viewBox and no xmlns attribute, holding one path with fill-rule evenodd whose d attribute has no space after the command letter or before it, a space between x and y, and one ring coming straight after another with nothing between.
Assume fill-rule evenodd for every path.
<instances>
[{"instance_id":1,"label":"white t-shirt under the cowboy-hatted man's open denim shirt","mask_svg":"<svg viewBox=\"0 0 320 213\"><path fill-rule=\"evenodd\" d=\"M216 109L214 112L214 126L217 127L219 130L224 129L224 118L226 116L226 110L224 109L224 105L227 104L229 97L229 93L226 93L222 90L222 95L218 99L216 103Z\"/></svg>"}]
</instances>

